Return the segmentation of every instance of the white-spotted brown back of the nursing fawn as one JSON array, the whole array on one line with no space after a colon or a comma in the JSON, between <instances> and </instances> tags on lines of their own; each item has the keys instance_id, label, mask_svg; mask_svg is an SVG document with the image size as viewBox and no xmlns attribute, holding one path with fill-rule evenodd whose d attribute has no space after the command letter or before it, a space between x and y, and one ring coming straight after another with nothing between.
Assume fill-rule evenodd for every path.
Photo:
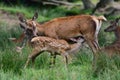
<instances>
[{"instance_id":1,"label":"white-spotted brown back of the nursing fawn","mask_svg":"<svg viewBox=\"0 0 120 80\"><path fill-rule=\"evenodd\" d=\"M64 49L70 48L69 44L65 40L56 40L49 37L35 37L31 40L35 47L47 48L47 49Z\"/></svg>"}]
</instances>

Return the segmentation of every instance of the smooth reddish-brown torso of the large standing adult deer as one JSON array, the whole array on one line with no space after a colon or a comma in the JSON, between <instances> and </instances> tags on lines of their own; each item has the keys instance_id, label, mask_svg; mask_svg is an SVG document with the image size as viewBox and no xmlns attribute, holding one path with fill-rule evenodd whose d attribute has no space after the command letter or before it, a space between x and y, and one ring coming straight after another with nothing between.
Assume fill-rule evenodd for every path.
<instances>
[{"instance_id":1,"label":"smooth reddish-brown torso of the large standing adult deer","mask_svg":"<svg viewBox=\"0 0 120 80\"><path fill-rule=\"evenodd\" d=\"M42 25L45 28L45 35L62 39L82 34L94 34L95 26L96 24L90 15L56 18Z\"/></svg>"}]
</instances>

